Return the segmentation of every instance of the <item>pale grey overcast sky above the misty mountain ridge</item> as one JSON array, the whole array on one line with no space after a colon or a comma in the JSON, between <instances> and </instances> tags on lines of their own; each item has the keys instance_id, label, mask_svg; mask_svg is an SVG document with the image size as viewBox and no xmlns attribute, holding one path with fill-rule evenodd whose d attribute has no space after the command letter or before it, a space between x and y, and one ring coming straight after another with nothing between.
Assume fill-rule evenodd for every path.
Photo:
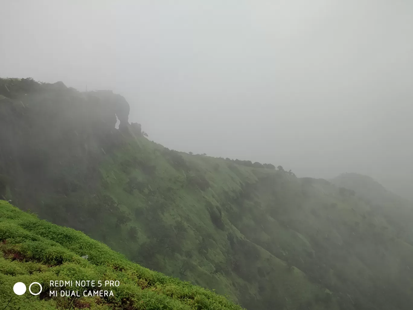
<instances>
[{"instance_id":1,"label":"pale grey overcast sky above the misty mountain ridge","mask_svg":"<svg viewBox=\"0 0 413 310\"><path fill-rule=\"evenodd\" d=\"M0 75L113 89L168 148L413 192L413 1L5 1Z\"/></svg>"}]
</instances>

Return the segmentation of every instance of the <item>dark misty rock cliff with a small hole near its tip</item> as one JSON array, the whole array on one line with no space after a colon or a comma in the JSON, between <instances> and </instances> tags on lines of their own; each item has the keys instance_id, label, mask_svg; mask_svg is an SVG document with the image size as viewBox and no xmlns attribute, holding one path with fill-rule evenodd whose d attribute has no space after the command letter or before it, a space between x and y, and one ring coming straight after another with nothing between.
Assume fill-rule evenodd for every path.
<instances>
[{"instance_id":1,"label":"dark misty rock cliff with a small hole near its tip","mask_svg":"<svg viewBox=\"0 0 413 310\"><path fill-rule=\"evenodd\" d=\"M99 163L123 141L128 115L129 104L112 91L0 79L0 199L27 206L42 193L64 197L78 179L93 187Z\"/></svg>"}]
</instances>

